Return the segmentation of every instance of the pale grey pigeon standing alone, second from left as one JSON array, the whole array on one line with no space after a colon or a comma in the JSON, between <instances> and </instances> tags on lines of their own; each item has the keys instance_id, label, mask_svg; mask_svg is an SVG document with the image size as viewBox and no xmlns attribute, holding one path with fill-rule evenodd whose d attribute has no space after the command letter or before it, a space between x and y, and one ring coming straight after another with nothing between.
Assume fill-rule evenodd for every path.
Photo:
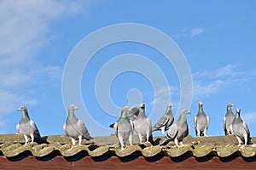
<instances>
[{"instance_id":1,"label":"pale grey pigeon standing alone, second from left","mask_svg":"<svg viewBox=\"0 0 256 170\"><path fill-rule=\"evenodd\" d=\"M72 140L73 146L76 144L76 140L79 139L79 145L82 144L82 139L93 139L90 137L90 133L84 125L84 122L79 120L75 114L74 110L79 108L76 105L69 105L67 121L63 125L63 129L68 137Z\"/></svg>"}]
</instances>

